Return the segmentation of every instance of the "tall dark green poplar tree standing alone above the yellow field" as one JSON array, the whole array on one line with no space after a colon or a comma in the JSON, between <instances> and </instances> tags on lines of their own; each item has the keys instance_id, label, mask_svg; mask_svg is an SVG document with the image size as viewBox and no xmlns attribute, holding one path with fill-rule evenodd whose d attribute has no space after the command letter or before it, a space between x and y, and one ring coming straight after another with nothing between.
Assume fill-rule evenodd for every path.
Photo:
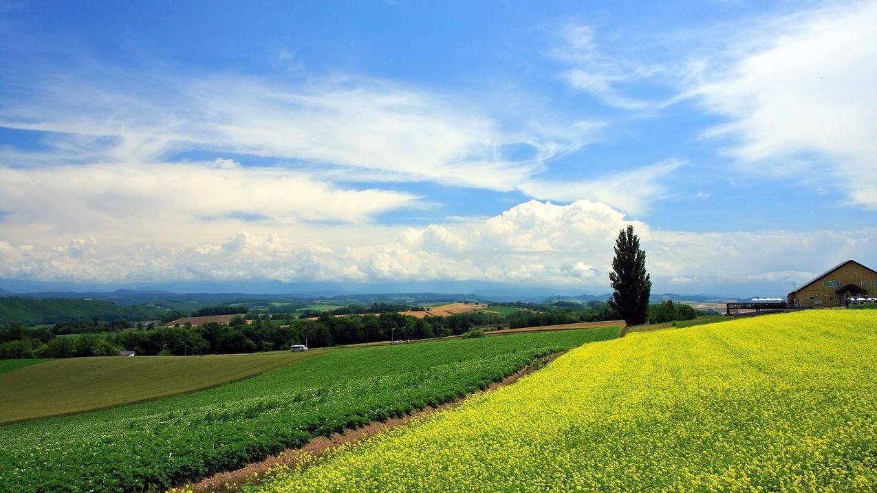
<instances>
[{"instance_id":1,"label":"tall dark green poplar tree standing alone above the yellow field","mask_svg":"<svg viewBox=\"0 0 877 493\"><path fill-rule=\"evenodd\" d=\"M652 277L645 272L645 252L639 247L639 238L633 226L618 232L615 241L615 259L612 260L610 306L616 309L627 325L645 324L652 294Z\"/></svg>"}]
</instances>

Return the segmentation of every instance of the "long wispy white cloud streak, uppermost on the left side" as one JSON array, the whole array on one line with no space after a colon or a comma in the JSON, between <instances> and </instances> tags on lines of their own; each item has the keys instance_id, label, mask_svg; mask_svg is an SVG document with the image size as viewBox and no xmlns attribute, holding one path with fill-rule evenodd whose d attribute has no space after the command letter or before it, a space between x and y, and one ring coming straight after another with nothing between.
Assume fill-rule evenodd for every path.
<instances>
[{"instance_id":1,"label":"long wispy white cloud streak, uppermost on the left side","mask_svg":"<svg viewBox=\"0 0 877 493\"><path fill-rule=\"evenodd\" d=\"M503 124L452 97L362 78L289 85L222 75L132 82L124 90L96 87L93 79L48 77L32 100L6 104L0 125L62 132L52 144L69 161L150 162L211 151L360 182L417 180L503 191L544 170L545 161L581 148L598 126L538 123L532 115L524 124ZM507 146L532 152L510 160L503 155ZM45 158L17 153L4 161Z\"/></svg>"}]
</instances>

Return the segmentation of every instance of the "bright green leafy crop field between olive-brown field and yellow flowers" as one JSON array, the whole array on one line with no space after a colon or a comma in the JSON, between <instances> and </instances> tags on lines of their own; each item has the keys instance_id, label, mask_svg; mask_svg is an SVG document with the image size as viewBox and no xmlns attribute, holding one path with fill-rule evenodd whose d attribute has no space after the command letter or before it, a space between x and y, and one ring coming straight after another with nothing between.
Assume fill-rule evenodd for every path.
<instances>
[{"instance_id":1,"label":"bright green leafy crop field between olive-brown field and yellow flowers","mask_svg":"<svg viewBox=\"0 0 877 493\"><path fill-rule=\"evenodd\" d=\"M329 351L242 382L0 426L0 486L157 491L486 388L617 327Z\"/></svg>"}]
</instances>

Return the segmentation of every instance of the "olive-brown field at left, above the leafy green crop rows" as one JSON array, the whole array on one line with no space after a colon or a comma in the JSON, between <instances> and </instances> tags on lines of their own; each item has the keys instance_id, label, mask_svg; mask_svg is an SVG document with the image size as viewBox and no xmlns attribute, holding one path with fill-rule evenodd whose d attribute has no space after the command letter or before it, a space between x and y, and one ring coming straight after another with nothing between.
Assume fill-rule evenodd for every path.
<instances>
[{"instance_id":1,"label":"olive-brown field at left, above the leafy green crop rows","mask_svg":"<svg viewBox=\"0 0 877 493\"><path fill-rule=\"evenodd\" d=\"M4 389L0 424L214 387L259 375L313 354L315 352L185 358L115 356L48 361L12 373L0 373L0 389Z\"/></svg>"}]
</instances>

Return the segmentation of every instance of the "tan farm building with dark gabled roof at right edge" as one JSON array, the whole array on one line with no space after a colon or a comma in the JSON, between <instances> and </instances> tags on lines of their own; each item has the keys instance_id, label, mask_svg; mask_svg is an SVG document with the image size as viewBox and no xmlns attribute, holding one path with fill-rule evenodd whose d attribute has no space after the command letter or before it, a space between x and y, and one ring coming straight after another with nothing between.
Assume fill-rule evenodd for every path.
<instances>
[{"instance_id":1,"label":"tan farm building with dark gabled roof at right edge","mask_svg":"<svg viewBox=\"0 0 877 493\"><path fill-rule=\"evenodd\" d=\"M788 305L800 308L846 306L850 300L877 295L877 271L844 261L788 293Z\"/></svg>"}]
</instances>

